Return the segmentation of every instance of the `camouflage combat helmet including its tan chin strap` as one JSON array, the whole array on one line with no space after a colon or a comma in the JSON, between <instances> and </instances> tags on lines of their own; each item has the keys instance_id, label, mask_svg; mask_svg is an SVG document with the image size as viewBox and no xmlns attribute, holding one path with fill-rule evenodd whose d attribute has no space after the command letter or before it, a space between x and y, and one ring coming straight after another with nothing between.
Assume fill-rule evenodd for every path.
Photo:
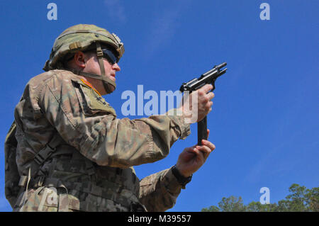
<instances>
[{"instance_id":1,"label":"camouflage combat helmet including its tan chin strap","mask_svg":"<svg viewBox=\"0 0 319 226\"><path fill-rule=\"evenodd\" d=\"M74 55L77 51L89 50L93 46L96 49L96 55L99 60L101 76L99 74L75 71L74 69L69 70L75 74L101 79L106 92L109 94L111 93L111 89L109 89L108 84L111 84L114 89L116 88L116 84L113 80L106 77L101 45L113 47L113 50L117 53L116 57L118 60L123 56L124 45L116 34L111 34L106 29L89 24L78 24L67 28L55 39L50 53L50 60L45 62L43 69L46 72L52 69L65 69L63 62L66 60L66 57Z\"/></svg>"}]
</instances>

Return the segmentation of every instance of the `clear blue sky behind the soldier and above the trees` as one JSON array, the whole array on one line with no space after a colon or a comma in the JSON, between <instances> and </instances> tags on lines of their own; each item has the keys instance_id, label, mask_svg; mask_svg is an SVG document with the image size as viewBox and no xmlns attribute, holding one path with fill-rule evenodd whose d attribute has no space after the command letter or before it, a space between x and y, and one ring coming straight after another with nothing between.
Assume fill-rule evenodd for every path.
<instances>
[{"instance_id":1,"label":"clear blue sky behind the soldier and above the trees","mask_svg":"<svg viewBox=\"0 0 319 226\"><path fill-rule=\"evenodd\" d=\"M50 2L57 4L57 21L47 20ZM269 21L259 18L263 2L270 6ZM4 144L24 86L43 72L57 35L90 23L125 44L117 89L105 96L118 118L124 117L123 91L137 92L139 84L158 94L175 91L228 62L208 115L216 150L171 211L200 211L232 195L245 204L259 201L262 187L274 203L292 183L318 186L318 8L315 0L1 1L0 140ZM174 165L196 136L194 124L167 158L137 166L139 178ZM0 210L11 211L4 197L4 151L0 158Z\"/></svg>"}]
</instances>

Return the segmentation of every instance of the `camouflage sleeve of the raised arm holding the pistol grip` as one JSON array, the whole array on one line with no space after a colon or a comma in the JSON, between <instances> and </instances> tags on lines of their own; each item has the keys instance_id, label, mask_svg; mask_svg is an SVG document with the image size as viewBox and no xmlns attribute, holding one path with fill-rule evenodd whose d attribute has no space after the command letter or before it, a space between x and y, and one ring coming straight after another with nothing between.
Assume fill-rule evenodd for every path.
<instances>
[{"instance_id":1,"label":"camouflage sleeve of the raised arm holding the pistol grip","mask_svg":"<svg viewBox=\"0 0 319 226\"><path fill-rule=\"evenodd\" d=\"M190 133L181 116L120 120L93 89L66 74L47 82L39 105L69 145L103 166L126 168L155 162L167 156L179 137Z\"/></svg>"}]
</instances>

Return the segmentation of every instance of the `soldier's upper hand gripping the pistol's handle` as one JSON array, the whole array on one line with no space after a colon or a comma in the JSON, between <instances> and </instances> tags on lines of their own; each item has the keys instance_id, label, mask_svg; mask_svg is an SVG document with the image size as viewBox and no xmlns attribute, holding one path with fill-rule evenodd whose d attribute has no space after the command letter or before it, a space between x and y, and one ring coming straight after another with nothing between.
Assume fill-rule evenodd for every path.
<instances>
[{"instance_id":1,"label":"soldier's upper hand gripping the pistol's handle","mask_svg":"<svg viewBox=\"0 0 319 226\"><path fill-rule=\"evenodd\" d=\"M209 92L211 89L213 86L206 84L201 89L191 92L190 95L183 96L181 111L184 117L189 119L189 123L199 122L211 112L211 106L213 106L211 99L215 96L213 92Z\"/></svg>"}]
</instances>

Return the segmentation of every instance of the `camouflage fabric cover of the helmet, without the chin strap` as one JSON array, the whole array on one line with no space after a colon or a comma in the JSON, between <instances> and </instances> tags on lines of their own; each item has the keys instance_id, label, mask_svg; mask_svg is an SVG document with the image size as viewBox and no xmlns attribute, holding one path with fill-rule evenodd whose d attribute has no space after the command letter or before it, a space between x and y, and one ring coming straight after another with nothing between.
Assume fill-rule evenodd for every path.
<instances>
[{"instance_id":1,"label":"camouflage fabric cover of the helmet, without the chin strap","mask_svg":"<svg viewBox=\"0 0 319 226\"><path fill-rule=\"evenodd\" d=\"M45 62L45 71L50 69L60 69L63 67L62 61L67 54L77 51L84 51L93 43L111 45L118 52L118 60L124 53L124 45L120 38L108 30L95 25L78 24L67 28L56 38L50 54L50 60Z\"/></svg>"}]
</instances>

